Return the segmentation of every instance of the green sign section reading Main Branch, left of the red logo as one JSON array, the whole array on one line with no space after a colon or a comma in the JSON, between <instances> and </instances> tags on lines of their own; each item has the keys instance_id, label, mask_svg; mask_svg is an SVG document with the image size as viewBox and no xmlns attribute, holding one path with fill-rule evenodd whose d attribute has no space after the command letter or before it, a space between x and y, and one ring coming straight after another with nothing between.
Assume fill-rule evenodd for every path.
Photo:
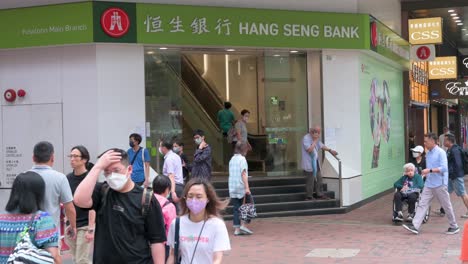
<instances>
[{"instance_id":1,"label":"green sign section reading Main Branch, left of the red logo","mask_svg":"<svg viewBox=\"0 0 468 264\"><path fill-rule=\"evenodd\" d=\"M0 10L0 48L93 42L91 2Z\"/></svg>"}]
</instances>

